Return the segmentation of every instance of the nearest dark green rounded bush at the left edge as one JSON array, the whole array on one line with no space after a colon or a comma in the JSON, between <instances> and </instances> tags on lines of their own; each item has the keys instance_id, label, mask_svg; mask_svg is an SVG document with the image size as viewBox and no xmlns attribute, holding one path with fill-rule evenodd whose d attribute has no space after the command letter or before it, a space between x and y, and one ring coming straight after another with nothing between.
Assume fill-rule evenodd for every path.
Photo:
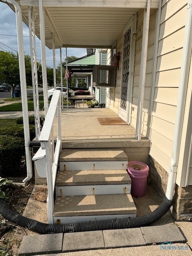
<instances>
[{"instance_id":1,"label":"nearest dark green rounded bush at the left edge","mask_svg":"<svg viewBox=\"0 0 192 256\"><path fill-rule=\"evenodd\" d=\"M20 168L25 146L22 138L0 135L0 166L2 176L12 176Z\"/></svg>"}]
</instances>

